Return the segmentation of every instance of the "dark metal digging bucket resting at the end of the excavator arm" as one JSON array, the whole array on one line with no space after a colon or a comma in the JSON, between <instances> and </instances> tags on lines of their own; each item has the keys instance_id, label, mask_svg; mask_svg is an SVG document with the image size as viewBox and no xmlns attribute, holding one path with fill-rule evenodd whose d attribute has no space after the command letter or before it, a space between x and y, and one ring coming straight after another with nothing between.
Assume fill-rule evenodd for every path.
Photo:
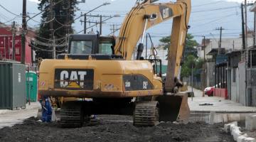
<instances>
[{"instance_id":1,"label":"dark metal digging bucket resting at the end of the excavator arm","mask_svg":"<svg viewBox=\"0 0 256 142\"><path fill-rule=\"evenodd\" d=\"M190 109L187 93L166 94L156 99L159 102L159 121L188 124Z\"/></svg>"}]
</instances>

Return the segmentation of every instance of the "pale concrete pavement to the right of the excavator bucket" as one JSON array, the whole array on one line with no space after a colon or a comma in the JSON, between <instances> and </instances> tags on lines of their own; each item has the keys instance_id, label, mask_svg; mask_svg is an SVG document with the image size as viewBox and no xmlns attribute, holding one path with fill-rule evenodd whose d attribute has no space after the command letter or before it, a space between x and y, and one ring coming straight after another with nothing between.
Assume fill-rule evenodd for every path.
<instances>
[{"instance_id":1,"label":"pale concrete pavement to the right of the excavator bucket","mask_svg":"<svg viewBox=\"0 0 256 142\"><path fill-rule=\"evenodd\" d=\"M245 107L242 104L221 97L188 98L191 109L191 122L205 121L209 124L228 121L245 121L245 117L256 114L256 107Z\"/></svg>"}]
</instances>

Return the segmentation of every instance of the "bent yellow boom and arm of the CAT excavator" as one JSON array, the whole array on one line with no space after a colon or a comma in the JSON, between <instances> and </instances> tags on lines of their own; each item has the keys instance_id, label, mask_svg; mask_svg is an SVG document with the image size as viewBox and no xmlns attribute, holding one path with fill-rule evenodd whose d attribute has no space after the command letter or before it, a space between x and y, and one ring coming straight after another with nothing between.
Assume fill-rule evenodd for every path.
<instances>
[{"instance_id":1,"label":"bent yellow boom and arm of the CAT excavator","mask_svg":"<svg viewBox=\"0 0 256 142\"><path fill-rule=\"evenodd\" d=\"M139 60L139 56L143 51L142 43L146 29L174 18L165 82L166 92L171 92L176 85L175 78L178 77L178 69L191 13L191 0L178 0L175 3L159 4L154 4L153 2L152 0L144 1L134 6L129 12L120 29L114 53L115 55L122 55L125 60L132 60L132 53L140 39L137 54L137 60Z\"/></svg>"}]
</instances>

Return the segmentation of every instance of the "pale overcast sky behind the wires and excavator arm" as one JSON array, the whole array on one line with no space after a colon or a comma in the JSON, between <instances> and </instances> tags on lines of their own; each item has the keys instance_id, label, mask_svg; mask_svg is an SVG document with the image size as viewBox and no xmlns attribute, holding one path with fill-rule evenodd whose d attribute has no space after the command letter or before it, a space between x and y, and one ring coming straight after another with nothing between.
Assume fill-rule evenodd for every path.
<instances>
[{"instance_id":1,"label":"pale overcast sky behind the wires and excavator arm","mask_svg":"<svg viewBox=\"0 0 256 142\"><path fill-rule=\"evenodd\" d=\"M27 11L29 16L33 16L33 13L38 13L37 0L28 0L27 3ZM80 0L78 0L80 1ZM96 6L104 2L111 2L110 5L102 6L100 9L95 10L92 14L102 14L102 15L114 15L119 14L119 18L112 18L107 21L107 23L103 24L103 34L108 35L111 33L110 28L112 24L117 24L119 28L120 24L124 20L125 14L132 9L134 6L134 2L136 0L86 0L85 4L78 4L79 11L76 12L76 16L80 16L80 13L85 13L90 9L94 9ZM159 2L170 1L170 0L159 0ZM172 0L176 1L176 0ZM229 1L229 2L228 2ZM232 1L232 2L231 2ZM195 35L196 40L198 42L201 41L203 35L206 35L206 38L218 38L219 31L215 30L220 26L223 26L226 30L223 31L224 38L228 37L238 37L241 32L241 10L240 10L240 2L243 0L191 0L192 2L192 13L191 20L189 25L191 28L188 30L188 33L192 33ZM252 1L248 1L252 2ZM15 3L15 4L14 4ZM210 4L209 4L210 3ZM5 6L6 9L9 9L13 13L20 14L22 11L22 0L1 0L0 4ZM202 6L203 5L203 6ZM232 9L225 9L227 7L231 7ZM214 9L222 9L215 11ZM11 19L15 19L14 21L21 24L21 18L8 13L4 9L0 8L0 21L6 22L11 21ZM37 27L38 22L41 20L41 16L37 16L33 20L29 21L28 26ZM90 18L88 21L98 21L97 18ZM7 22L7 24L11 24L11 22ZM248 28L253 28L253 15L251 12L248 12ZM88 26L92 25L88 23ZM80 19L75 21L73 24L73 28L75 31L81 31L83 25L80 23ZM91 30L91 29L90 29ZM99 31L99 26L93 28L94 31ZM155 36L154 41L158 42L160 37L156 36L165 36L170 35L171 33L171 20L165 23L161 23L159 26L155 26L154 28L149 29L147 31L151 33L151 35ZM117 34L116 34L117 35Z\"/></svg>"}]
</instances>

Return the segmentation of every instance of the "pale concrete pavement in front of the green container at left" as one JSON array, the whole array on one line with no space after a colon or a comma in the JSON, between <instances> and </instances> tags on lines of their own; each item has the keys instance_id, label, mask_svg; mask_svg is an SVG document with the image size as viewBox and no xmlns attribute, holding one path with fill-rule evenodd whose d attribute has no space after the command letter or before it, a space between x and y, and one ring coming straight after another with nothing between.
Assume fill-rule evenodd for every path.
<instances>
[{"instance_id":1,"label":"pale concrete pavement in front of the green container at left","mask_svg":"<svg viewBox=\"0 0 256 142\"><path fill-rule=\"evenodd\" d=\"M41 104L33 102L31 105L26 104L26 109L0 110L0 129L5 126L14 126L31 116L37 116L39 108L41 108Z\"/></svg>"}]
</instances>

